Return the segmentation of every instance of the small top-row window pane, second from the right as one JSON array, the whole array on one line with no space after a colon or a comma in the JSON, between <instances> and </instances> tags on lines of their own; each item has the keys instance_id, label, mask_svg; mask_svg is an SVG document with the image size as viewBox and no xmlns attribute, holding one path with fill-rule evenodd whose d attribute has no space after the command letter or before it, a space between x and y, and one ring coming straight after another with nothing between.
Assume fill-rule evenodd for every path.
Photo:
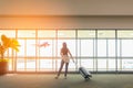
<instances>
[{"instance_id":1,"label":"small top-row window pane, second from the right","mask_svg":"<svg viewBox=\"0 0 133 88\"><path fill-rule=\"evenodd\" d=\"M113 30L100 30L98 31L98 37L115 37L115 31Z\"/></svg>"}]
</instances>

